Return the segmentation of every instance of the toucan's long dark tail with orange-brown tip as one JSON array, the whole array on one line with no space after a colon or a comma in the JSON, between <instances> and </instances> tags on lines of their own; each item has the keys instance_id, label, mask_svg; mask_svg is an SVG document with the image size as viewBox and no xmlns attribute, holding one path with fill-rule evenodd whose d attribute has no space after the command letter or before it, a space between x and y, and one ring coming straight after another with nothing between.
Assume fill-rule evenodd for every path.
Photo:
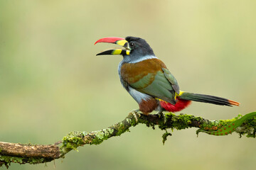
<instances>
[{"instance_id":1,"label":"toucan's long dark tail with orange-brown tip","mask_svg":"<svg viewBox=\"0 0 256 170\"><path fill-rule=\"evenodd\" d=\"M236 101L228 100L227 98L221 98L217 96L210 96L205 94L193 94L188 92L183 92L181 99L188 100L188 101L198 101L203 103L211 103L215 105L223 105L223 106L239 106L240 103Z\"/></svg>"}]
</instances>

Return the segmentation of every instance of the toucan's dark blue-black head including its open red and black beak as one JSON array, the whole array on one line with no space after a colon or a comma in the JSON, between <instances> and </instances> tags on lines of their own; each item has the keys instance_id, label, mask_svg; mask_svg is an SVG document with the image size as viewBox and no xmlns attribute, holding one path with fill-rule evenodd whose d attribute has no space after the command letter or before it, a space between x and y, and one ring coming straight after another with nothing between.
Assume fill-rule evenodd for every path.
<instances>
[{"instance_id":1,"label":"toucan's dark blue-black head including its open red and black beak","mask_svg":"<svg viewBox=\"0 0 256 170\"><path fill-rule=\"evenodd\" d=\"M105 50L97 55L123 55L124 59L127 57L129 60L138 60L145 56L154 56L154 52L149 44L142 38L128 36L127 38L101 38L98 42L108 42L121 45L124 49Z\"/></svg>"}]
</instances>

